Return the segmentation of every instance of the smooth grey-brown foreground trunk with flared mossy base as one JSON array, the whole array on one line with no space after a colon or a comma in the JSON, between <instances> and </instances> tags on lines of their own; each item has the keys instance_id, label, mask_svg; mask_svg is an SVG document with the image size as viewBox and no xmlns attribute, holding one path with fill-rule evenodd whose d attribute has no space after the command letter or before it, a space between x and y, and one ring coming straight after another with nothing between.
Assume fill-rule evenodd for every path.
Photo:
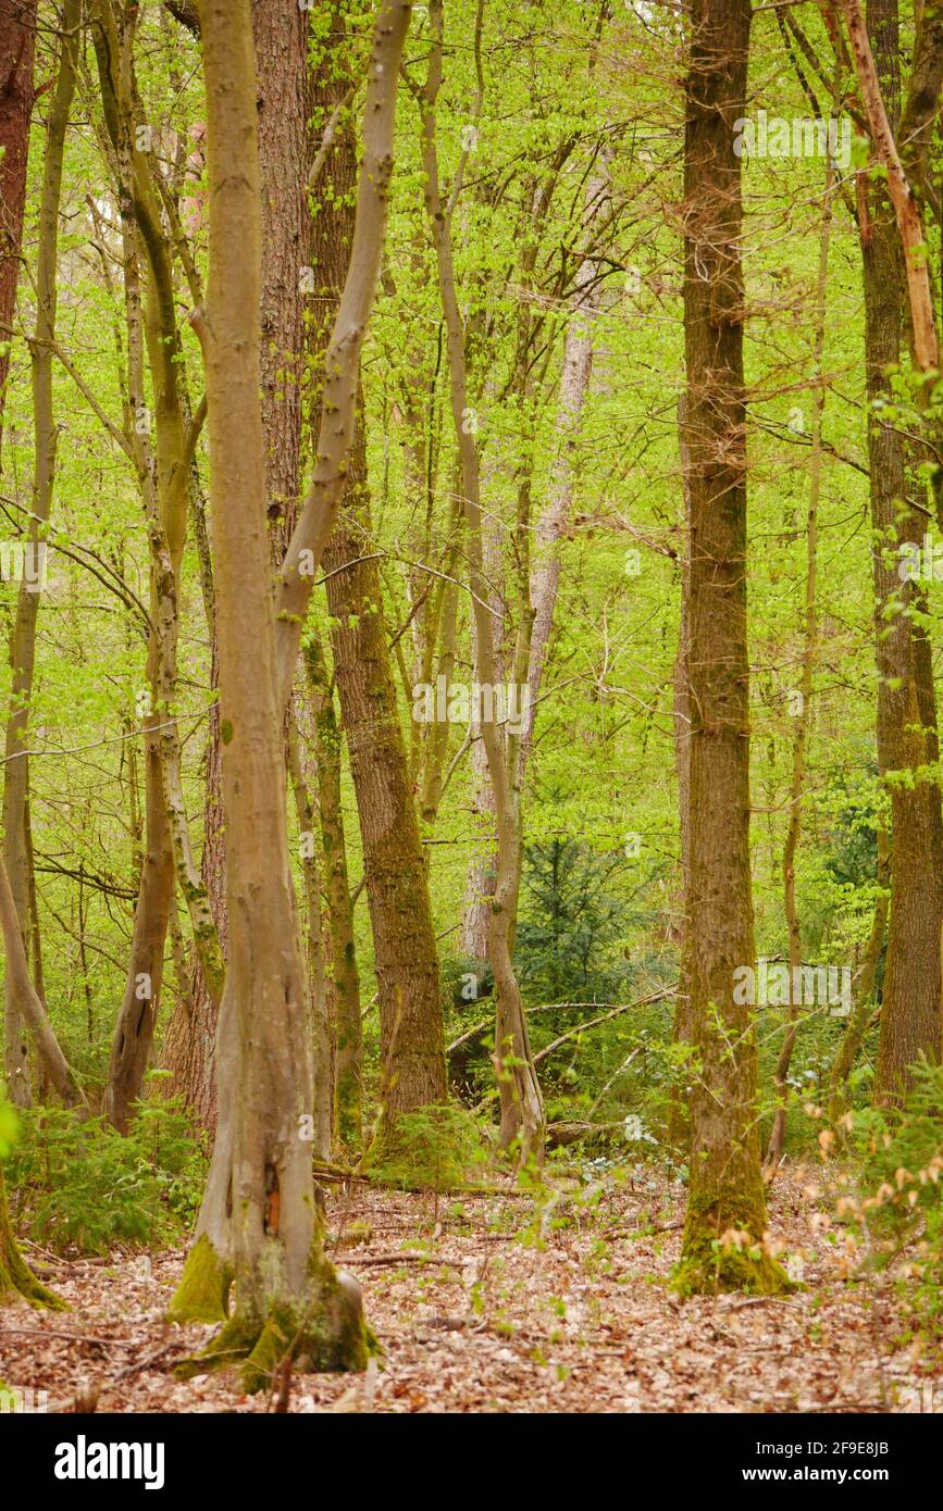
<instances>
[{"instance_id":1,"label":"smooth grey-brown foreground trunk with flared mossy base","mask_svg":"<svg viewBox=\"0 0 943 1511\"><path fill-rule=\"evenodd\" d=\"M378 62L397 71L408 12ZM261 227L251 0L201 6L210 261L204 351L227 822L230 959L219 1011L219 1129L172 1315L227 1318L196 1372L245 1358L272 1383L283 1358L366 1364L360 1289L320 1245L310 1148L313 1064L287 843L284 707L277 672L258 393ZM233 174L233 163L239 174Z\"/></svg>"}]
</instances>

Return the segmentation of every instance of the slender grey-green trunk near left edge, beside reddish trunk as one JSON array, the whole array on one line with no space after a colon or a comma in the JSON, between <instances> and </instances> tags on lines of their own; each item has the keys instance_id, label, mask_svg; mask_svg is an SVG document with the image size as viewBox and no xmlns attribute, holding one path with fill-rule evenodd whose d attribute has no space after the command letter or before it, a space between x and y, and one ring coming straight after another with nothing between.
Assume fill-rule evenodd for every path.
<instances>
[{"instance_id":1,"label":"slender grey-green trunk near left edge, beside reddish trunk","mask_svg":"<svg viewBox=\"0 0 943 1511\"><path fill-rule=\"evenodd\" d=\"M45 159L42 168L42 198L39 202L39 255L36 266L36 325L30 340L33 379L33 499L29 523L29 550L33 567L39 567L39 552L45 550L45 524L53 508L57 429L53 414L53 351L56 337L56 275L59 266L59 205L62 199L62 159L65 133L76 89L76 59L79 56L79 21L82 6L70 0L63 11L63 41L53 107L50 110ZM30 30L32 38L32 30ZM32 45L32 44L30 44ZM39 582L42 579L39 577ZM32 846L29 843L29 716L33 698L36 662L36 621L39 615L38 582L23 574L17 597L17 616L11 636L11 701L6 722L6 760L3 766L3 860L11 893L20 919L24 950L30 950L30 890ZM38 996L38 994L36 994ZM45 1018L45 1012L42 1012ZM11 1100L29 1106L29 1058L21 1034L14 973L6 978L6 1079ZM51 1027L39 1040L47 1044Z\"/></svg>"}]
</instances>

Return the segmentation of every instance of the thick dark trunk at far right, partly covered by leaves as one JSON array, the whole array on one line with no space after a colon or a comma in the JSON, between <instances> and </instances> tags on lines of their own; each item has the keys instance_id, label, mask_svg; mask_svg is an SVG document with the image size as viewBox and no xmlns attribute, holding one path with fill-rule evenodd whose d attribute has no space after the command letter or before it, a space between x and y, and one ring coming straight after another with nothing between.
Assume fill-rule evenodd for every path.
<instances>
[{"instance_id":1,"label":"thick dark trunk at far right, partly covered by leaves","mask_svg":"<svg viewBox=\"0 0 943 1511\"><path fill-rule=\"evenodd\" d=\"M870 0L867 24L893 130L901 107L896 0ZM867 397L873 403L889 393L887 369L901 358L907 283L893 209L881 183L872 184L869 201L861 261ZM935 707L932 684L929 697L920 694L925 641L908 613L913 604L920 606L919 585L901 582L896 552L898 541L919 544L925 527L916 509L901 517L908 496L905 446L899 429L883 425L880 416L870 417L870 518L878 541L873 550L878 766L890 786L890 917L873 1092L878 1103L902 1094L910 1067L920 1055L938 1061L943 1037L940 792L923 775L935 751ZM893 603L901 610L889 615ZM895 780L896 772L920 775L911 784Z\"/></svg>"}]
</instances>

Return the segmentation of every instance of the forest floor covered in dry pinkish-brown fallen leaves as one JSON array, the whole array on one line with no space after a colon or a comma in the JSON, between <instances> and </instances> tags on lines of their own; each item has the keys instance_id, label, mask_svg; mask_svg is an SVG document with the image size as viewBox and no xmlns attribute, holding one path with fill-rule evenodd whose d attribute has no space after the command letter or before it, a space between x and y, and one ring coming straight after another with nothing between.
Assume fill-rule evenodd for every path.
<instances>
[{"instance_id":1,"label":"forest floor covered in dry pinkish-brown fallen leaves","mask_svg":"<svg viewBox=\"0 0 943 1511\"><path fill-rule=\"evenodd\" d=\"M540 1204L512 1191L332 1186L331 1254L360 1280L382 1357L361 1377L295 1377L287 1410L919 1410L932 1367L904 1342L893 1280L861 1278L833 1242L819 1183L818 1171L793 1168L769 1201L772 1236L805 1256L807 1289L691 1301L665 1284L683 1189L648 1171L623 1185L603 1176L589 1204L576 1182ZM50 1410L88 1410L95 1398L100 1411L274 1410L272 1398L242 1395L231 1370L187 1383L171 1373L210 1336L163 1321L181 1260L50 1259L45 1275L71 1310L2 1312L0 1378L45 1390ZM943 1366L931 1389L943 1402Z\"/></svg>"}]
</instances>

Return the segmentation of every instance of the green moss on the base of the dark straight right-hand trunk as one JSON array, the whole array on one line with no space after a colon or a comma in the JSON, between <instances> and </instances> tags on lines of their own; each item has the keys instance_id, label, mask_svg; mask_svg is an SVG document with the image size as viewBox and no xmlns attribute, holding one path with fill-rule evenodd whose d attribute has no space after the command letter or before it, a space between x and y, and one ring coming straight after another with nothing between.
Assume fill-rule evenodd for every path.
<instances>
[{"instance_id":1,"label":"green moss on the base of the dark straight right-hand trunk","mask_svg":"<svg viewBox=\"0 0 943 1511\"><path fill-rule=\"evenodd\" d=\"M691 1203L672 1289L683 1296L716 1296L725 1290L775 1296L793 1290L783 1266L768 1253L763 1227L762 1212Z\"/></svg>"}]
</instances>

